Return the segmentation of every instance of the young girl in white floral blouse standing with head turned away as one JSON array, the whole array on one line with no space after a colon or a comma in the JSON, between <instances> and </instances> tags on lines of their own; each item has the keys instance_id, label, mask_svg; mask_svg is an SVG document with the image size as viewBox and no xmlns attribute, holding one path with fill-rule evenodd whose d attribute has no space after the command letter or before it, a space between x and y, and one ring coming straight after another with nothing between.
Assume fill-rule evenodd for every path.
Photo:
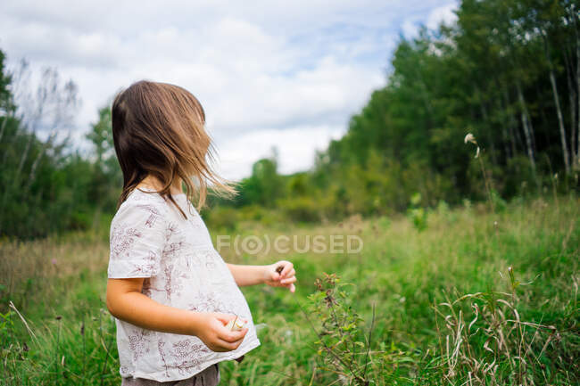
<instances>
[{"instance_id":1,"label":"young girl in white floral blouse standing with head turned away","mask_svg":"<svg viewBox=\"0 0 580 386\"><path fill-rule=\"evenodd\" d=\"M213 248L190 201L195 191L203 206L208 182L232 189L206 160L204 122L201 104L179 86L140 81L112 104L123 190L111 223L106 302L116 318L122 385L218 384L219 362L260 345L238 286L294 292L292 263L236 266ZM228 328L236 318L245 322L241 331Z\"/></svg>"}]
</instances>

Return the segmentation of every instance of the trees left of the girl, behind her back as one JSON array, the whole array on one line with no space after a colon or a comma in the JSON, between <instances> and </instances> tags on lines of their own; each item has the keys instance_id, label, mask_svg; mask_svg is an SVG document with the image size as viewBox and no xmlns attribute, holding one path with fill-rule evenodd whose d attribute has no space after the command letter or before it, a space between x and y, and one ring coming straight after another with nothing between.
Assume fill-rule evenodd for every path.
<instances>
[{"instance_id":1,"label":"trees left of the girl, behind her back","mask_svg":"<svg viewBox=\"0 0 580 386\"><path fill-rule=\"evenodd\" d=\"M28 64L8 74L1 52L0 73L0 234L33 238L98 228L103 213L114 211L122 183L110 109L99 111L87 136L95 157L83 156L70 149L79 106L74 82L48 68L33 91Z\"/></svg>"}]
</instances>

